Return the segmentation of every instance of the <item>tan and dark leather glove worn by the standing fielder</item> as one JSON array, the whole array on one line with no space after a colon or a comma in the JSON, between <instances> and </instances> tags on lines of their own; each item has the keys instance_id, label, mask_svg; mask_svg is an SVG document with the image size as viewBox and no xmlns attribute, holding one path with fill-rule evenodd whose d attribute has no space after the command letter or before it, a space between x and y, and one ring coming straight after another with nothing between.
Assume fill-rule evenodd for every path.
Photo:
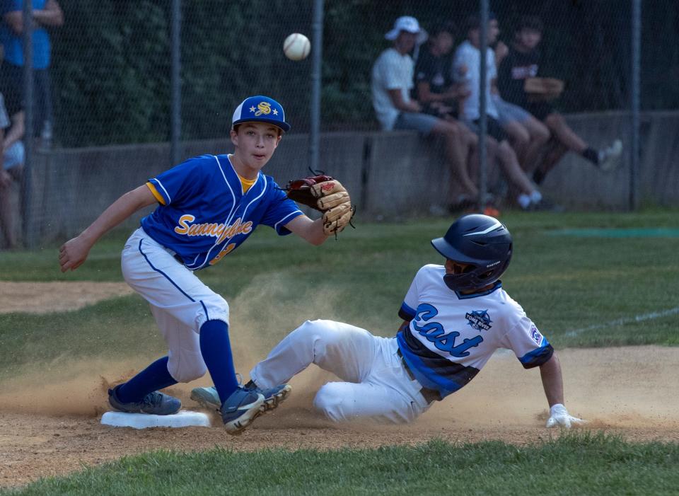
<instances>
[{"instance_id":1,"label":"tan and dark leather glove worn by the standing fielder","mask_svg":"<svg viewBox=\"0 0 679 496\"><path fill-rule=\"evenodd\" d=\"M291 180L283 190L290 200L323 212L323 232L327 235L337 235L354 217L356 209L349 192L330 175Z\"/></svg>"}]
</instances>

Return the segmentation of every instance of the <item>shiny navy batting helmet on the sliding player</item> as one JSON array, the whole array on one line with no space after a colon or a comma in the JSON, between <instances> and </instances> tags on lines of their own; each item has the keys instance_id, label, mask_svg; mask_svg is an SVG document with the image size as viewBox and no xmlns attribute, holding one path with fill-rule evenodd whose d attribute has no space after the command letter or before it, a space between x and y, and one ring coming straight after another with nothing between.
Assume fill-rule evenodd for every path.
<instances>
[{"instance_id":1,"label":"shiny navy batting helmet on the sliding player","mask_svg":"<svg viewBox=\"0 0 679 496\"><path fill-rule=\"evenodd\" d=\"M453 291L470 291L492 284L509 267L511 234L499 220L482 214L460 217L446 236L431 245L448 260L469 265L462 274L446 274Z\"/></svg>"}]
</instances>

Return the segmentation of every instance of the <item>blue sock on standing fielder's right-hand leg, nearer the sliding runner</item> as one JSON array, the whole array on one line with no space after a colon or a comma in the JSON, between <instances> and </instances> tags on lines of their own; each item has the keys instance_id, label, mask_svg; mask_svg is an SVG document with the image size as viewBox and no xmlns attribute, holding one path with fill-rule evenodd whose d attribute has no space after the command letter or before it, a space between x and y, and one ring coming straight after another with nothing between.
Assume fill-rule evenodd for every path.
<instances>
[{"instance_id":1,"label":"blue sock on standing fielder's right-hand leg, nearer the sliding runner","mask_svg":"<svg viewBox=\"0 0 679 496\"><path fill-rule=\"evenodd\" d=\"M207 321L200 327L200 352L210 372L221 403L238 388L236 369L233 367L228 324L224 321Z\"/></svg>"}]
</instances>

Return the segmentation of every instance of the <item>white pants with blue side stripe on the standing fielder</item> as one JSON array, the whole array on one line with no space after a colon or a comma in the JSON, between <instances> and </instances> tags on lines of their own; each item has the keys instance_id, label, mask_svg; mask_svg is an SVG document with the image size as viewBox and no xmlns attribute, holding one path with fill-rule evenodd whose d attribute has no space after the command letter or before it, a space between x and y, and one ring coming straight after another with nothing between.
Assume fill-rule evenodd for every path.
<instances>
[{"instance_id":1,"label":"white pants with blue side stripe on the standing fielder","mask_svg":"<svg viewBox=\"0 0 679 496\"><path fill-rule=\"evenodd\" d=\"M226 300L179 263L165 247L137 229L122 250L122 275L151 305L151 313L168 345L168 371L189 382L207 371L199 332L206 321L228 324Z\"/></svg>"}]
</instances>

